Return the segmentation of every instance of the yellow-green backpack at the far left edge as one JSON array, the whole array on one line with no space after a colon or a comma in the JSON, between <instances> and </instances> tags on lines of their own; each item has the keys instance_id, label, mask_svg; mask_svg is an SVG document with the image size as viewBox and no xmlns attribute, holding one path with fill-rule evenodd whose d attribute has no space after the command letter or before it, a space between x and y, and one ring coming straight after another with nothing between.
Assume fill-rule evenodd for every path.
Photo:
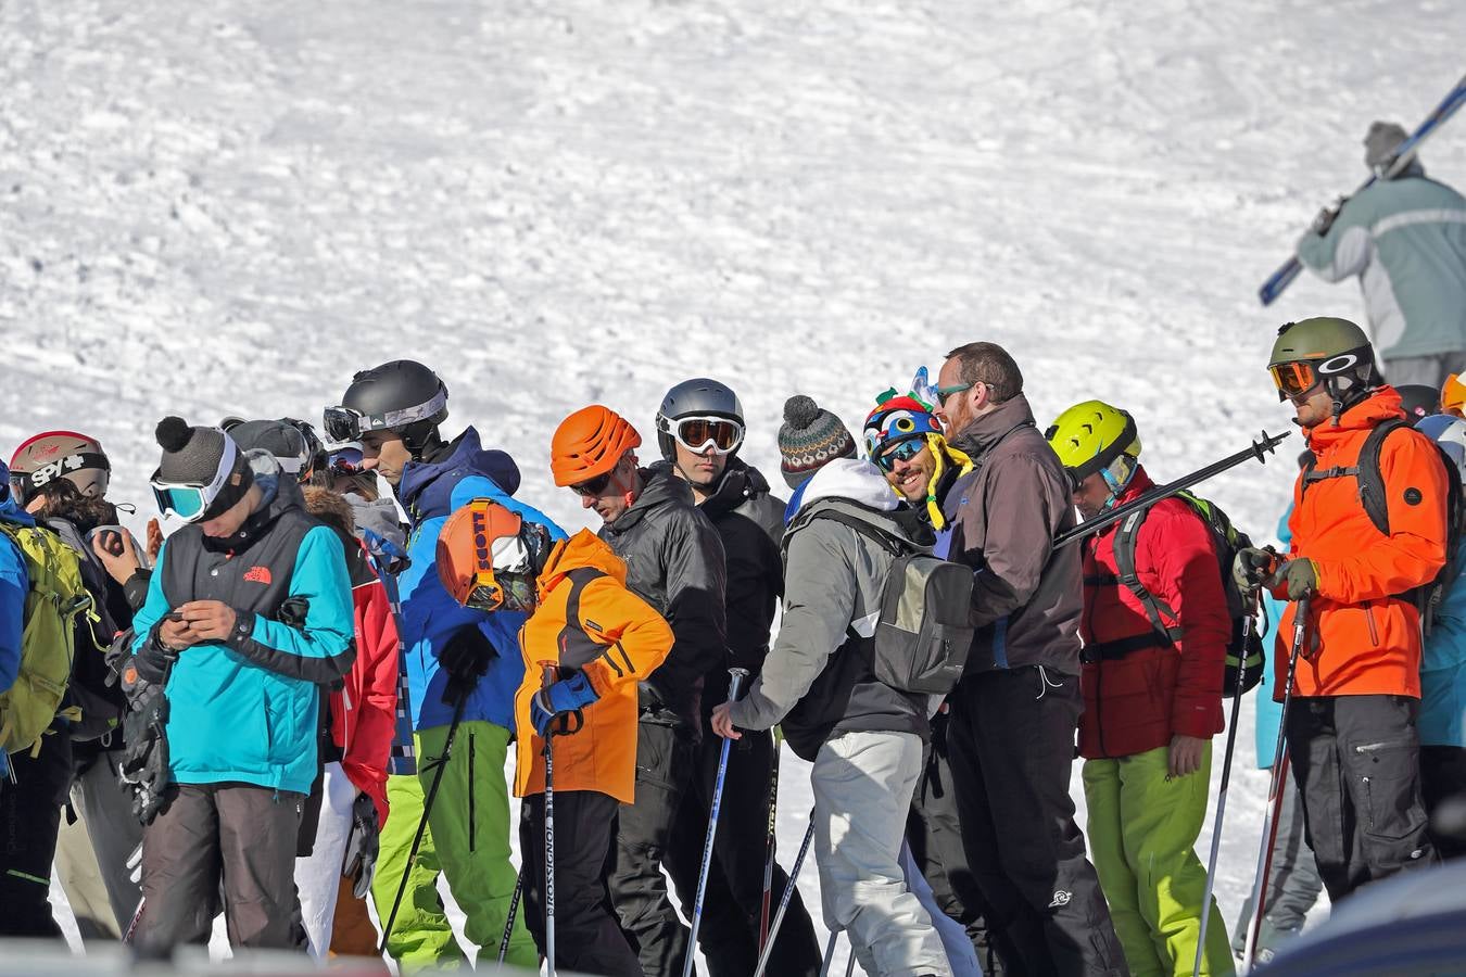
<instances>
[{"instance_id":1,"label":"yellow-green backpack at the far left edge","mask_svg":"<svg viewBox=\"0 0 1466 977\"><path fill-rule=\"evenodd\" d=\"M81 557L48 529L0 521L21 551L31 586L25 595L21 671L0 693L0 748L6 753L41 748L41 735L60 710L72 677L76 615L91 611L82 584Z\"/></svg>"}]
</instances>

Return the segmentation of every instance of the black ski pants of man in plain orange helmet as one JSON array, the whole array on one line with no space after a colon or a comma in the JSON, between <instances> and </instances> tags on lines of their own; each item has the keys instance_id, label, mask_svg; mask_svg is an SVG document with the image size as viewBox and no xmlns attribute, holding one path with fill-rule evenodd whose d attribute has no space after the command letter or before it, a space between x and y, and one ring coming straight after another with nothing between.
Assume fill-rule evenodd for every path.
<instances>
[{"instance_id":1,"label":"black ski pants of man in plain orange helmet","mask_svg":"<svg viewBox=\"0 0 1466 977\"><path fill-rule=\"evenodd\" d=\"M661 861L692 781L696 747L686 725L661 716L644 712L636 724L636 803L620 806L607 886L647 977L680 977L689 932L671 907ZM692 907L686 908L690 915Z\"/></svg>"}]
</instances>

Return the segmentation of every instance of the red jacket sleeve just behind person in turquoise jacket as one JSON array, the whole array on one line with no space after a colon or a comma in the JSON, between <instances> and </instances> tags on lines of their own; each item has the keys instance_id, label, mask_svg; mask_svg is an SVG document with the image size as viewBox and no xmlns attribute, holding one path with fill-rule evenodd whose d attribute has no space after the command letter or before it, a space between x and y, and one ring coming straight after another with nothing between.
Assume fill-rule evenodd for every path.
<instances>
[{"instance_id":1,"label":"red jacket sleeve just behind person in turquoise jacket","mask_svg":"<svg viewBox=\"0 0 1466 977\"><path fill-rule=\"evenodd\" d=\"M397 725L397 664L402 642L397 620L381 582L366 587L356 608L356 664L362 700L356 706L356 728L342 757L342 769L356 790L377 804L380 823L387 823L387 760Z\"/></svg>"}]
</instances>

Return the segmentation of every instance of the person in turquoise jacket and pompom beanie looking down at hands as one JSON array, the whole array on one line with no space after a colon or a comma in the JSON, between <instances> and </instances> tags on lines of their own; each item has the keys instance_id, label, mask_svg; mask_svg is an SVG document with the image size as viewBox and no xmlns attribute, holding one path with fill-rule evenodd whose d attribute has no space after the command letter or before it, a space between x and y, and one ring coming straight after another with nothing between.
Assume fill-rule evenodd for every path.
<instances>
[{"instance_id":1,"label":"person in turquoise jacket and pompom beanie looking down at hands","mask_svg":"<svg viewBox=\"0 0 1466 977\"><path fill-rule=\"evenodd\" d=\"M345 554L271 456L182 417L157 439L152 494L183 526L133 620L136 671L167 696L167 787L144 833L135 939L207 943L223 882L236 951L302 949L295 851L318 687L355 661Z\"/></svg>"}]
</instances>

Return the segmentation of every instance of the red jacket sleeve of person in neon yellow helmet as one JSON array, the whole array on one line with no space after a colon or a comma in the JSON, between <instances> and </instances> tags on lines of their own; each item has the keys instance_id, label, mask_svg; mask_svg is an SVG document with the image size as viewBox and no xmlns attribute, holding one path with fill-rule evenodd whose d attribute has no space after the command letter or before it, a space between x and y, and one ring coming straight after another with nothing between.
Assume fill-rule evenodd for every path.
<instances>
[{"instance_id":1,"label":"red jacket sleeve of person in neon yellow helmet","mask_svg":"<svg viewBox=\"0 0 1466 977\"><path fill-rule=\"evenodd\" d=\"M1192 511L1157 507L1141 527L1136 548L1138 565L1155 567L1154 593L1176 612L1183 630L1171 728L1182 735L1211 737L1223 729L1221 677L1231 640L1211 530Z\"/></svg>"}]
</instances>

